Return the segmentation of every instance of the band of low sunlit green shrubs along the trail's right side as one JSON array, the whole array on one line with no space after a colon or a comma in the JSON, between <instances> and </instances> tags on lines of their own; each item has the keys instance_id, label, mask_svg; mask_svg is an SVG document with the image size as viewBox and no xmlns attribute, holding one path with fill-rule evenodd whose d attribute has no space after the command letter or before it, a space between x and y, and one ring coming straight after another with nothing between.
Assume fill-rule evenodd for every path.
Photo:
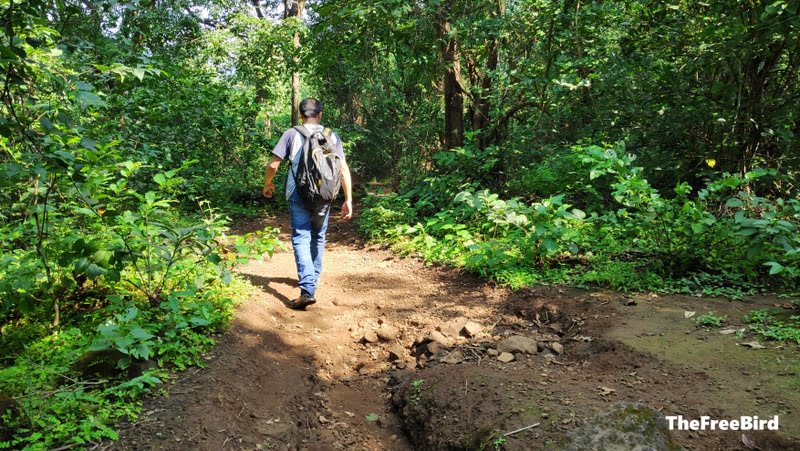
<instances>
[{"instance_id":1,"label":"band of low sunlit green shrubs along the trail's right side","mask_svg":"<svg viewBox=\"0 0 800 451\"><path fill-rule=\"evenodd\" d=\"M583 189L618 208L587 205L586 213L565 195L531 203L488 190L452 196L455 185L444 175L401 195L370 199L360 228L398 251L514 288L572 283L740 299L769 284L797 283L796 201L742 190L772 172L725 174L696 193L679 183L665 197L622 145L573 151L588 174ZM458 153L441 158L446 155Z\"/></svg>"}]
</instances>

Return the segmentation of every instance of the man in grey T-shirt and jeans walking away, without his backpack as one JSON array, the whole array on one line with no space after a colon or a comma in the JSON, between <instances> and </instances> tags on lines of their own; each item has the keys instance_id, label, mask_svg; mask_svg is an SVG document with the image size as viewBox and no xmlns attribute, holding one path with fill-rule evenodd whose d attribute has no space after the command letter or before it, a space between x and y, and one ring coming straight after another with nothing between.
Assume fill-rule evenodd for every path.
<instances>
[{"instance_id":1,"label":"man in grey T-shirt and jeans walking away, without his backpack","mask_svg":"<svg viewBox=\"0 0 800 451\"><path fill-rule=\"evenodd\" d=\"M325 128L321 125L322 103L317 99L304 99L300 102L300 116L303 120L303 127L309 134L323 132ZM328 131L325 130L327 133ZM327 136L327 134L326 134ZM308 139L303 133L295 128L290 128L281 136L280 141L272 151L272 160L267 165L264 175L264 196L272 197L275 192L275 185L272 179L278 171L278 167L285 159L289 159L291 169L289 177L286 179L286 200L289 202L289 214L292 222L292 248L294 249L294 260L297 263L297 279L300 288L300 297L291 301L289 307L295 310L304 310L316 299L314 295L319 282L319 275L322 272L322 252L325 248L325 233L328 230L328 218L330 216L330 204L320 206L308 206L303 202L299 190L296 189L294 174L296 174L300 157L303 153L303 145ZM342 205L342 218L350 219L353 216L353 197L352 185L350 181L350 168L344 158L342 141L335 133L330 132L329 139L332 141L336 154L341 161L341 181L344 189L345 201Z\"/></svg>"}]
</instances>

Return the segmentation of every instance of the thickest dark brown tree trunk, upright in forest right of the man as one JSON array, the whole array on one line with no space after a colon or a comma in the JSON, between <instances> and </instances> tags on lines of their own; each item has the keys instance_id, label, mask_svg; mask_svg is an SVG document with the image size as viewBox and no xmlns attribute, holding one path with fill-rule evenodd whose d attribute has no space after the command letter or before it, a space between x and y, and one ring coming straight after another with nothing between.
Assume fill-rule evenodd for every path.
<instances>
[{"instance_id":1,"label":"thickest dark brown tree trunk, upright in forest right of the man","mask_svg":"<svg viewBox=\"0 0 800 451\"><path fill-rule=\"evenodd\" d=\"M444 63L444 147L464 145L464 93L461 91L461 62L458 41L450 36L449 4L439 9L439 33Z\"/></svg>"}]
</instances>

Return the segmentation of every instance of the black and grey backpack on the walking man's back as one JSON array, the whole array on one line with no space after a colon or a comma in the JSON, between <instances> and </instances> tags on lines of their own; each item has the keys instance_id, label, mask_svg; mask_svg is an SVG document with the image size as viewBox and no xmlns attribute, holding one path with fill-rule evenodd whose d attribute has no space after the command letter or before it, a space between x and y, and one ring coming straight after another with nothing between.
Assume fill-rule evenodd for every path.
<instances>
[{"instance_id":1,"label":"black and grey backpack on the walking man's back","mask_svg":"<svg viewBox=\"0 0 800 451\"><path fill-rule=\"evenodd\" d=\"M302 125L294 127L303 137L300 161L294 173L295 189L308 208L330 204L341 186L342 161L333 146L331 129L310 133Z\"/></svg>"}]
</instances>

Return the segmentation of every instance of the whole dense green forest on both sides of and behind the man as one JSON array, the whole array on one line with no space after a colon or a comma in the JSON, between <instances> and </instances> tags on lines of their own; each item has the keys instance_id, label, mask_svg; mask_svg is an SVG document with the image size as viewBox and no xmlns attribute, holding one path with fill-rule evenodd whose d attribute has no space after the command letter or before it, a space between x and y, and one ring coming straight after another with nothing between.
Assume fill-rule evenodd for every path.
<instances>
[{"instance_id":1,"label":"whole dense green forest on both sides of and behind the man","mask_svg":"<svg viewBox=\"0 0 800 451\"><path fill-rule=\"evenodd\" d=\"M359 226L514 287L800 276L800 2L0 2L0 448L114 438L278 245L306 95Z\"/></svg>"}]
</instances>

